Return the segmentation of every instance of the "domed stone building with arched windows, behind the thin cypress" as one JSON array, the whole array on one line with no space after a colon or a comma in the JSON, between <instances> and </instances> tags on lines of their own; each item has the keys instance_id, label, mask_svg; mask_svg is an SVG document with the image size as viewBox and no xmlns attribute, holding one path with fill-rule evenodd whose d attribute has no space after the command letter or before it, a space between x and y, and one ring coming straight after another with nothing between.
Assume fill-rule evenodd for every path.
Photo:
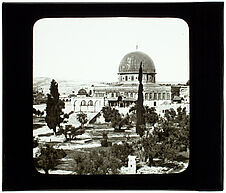
<instances>
[{"instance_id":1,"label":"domed stone building with arched windows, behind the thin cypress","mask_svg":"<svg viewBox=\"0 0 226 193\"><path fill-rule=\"evenodd\" d=\"M105 97L109 106L128 107L135 103L138 96L138 74L141 62L144 105L157 106L164 101L170 101L171 87L156 84L154 62L147 54L140 51L126 54L119 64L118 82L106 87L94 87L94 96Z\"/></svg>"}]
</instances>

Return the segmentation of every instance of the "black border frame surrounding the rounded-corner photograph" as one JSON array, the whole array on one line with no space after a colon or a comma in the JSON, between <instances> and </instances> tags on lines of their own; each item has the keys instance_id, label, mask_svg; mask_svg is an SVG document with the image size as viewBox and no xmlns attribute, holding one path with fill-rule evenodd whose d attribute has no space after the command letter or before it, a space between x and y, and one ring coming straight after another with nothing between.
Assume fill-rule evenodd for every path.
<instances>
[{"instance_id":1,"label":"black border frame surrounding the rounded-corner photograph","mask_svg":"<svg viewBox=\"0 0 226 193\"><path fill-rule=\"evenodd\" d=\"M222 2L3 3L3 190L223 190L223 7ZM45 176L35 170L32 33L33 24L48 17L176 17L187 22L191 84L187 170L128 176Z\"/></svg>"}]
</instances>

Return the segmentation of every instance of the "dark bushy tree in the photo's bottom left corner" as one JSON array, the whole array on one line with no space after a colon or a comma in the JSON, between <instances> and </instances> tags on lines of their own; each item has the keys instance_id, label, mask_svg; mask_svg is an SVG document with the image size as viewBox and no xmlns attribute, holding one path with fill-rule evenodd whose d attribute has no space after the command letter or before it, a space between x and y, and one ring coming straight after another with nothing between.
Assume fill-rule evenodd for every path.
<instances>
[{"instance_id":1,"label":"dark bushy tree in the photo's bottom left corner","mask_svg":"<svg viewBox=\"0 0 226 193\"><path fill-rule=\"evenodd\" d=\"M41 147L40 155L35 159L35 166L48 174L50 169L54 169L59 164L59 159L65 156L64 150L57 150L46 144L46 146Z\"/></svg>"}]
</instances>

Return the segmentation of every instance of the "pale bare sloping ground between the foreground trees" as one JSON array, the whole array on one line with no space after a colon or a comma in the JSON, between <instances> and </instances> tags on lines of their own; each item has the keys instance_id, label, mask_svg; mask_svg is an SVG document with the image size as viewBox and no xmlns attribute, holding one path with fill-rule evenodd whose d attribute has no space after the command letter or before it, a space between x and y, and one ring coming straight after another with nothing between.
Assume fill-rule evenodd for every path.
<instances>
[{"instance_id":1,"label":"pale bare sloping ground between the foreground trees","mask_svg":"<svg viewBox=\"0 0 226 193\"><path fill-rule=\"evenodd\" d=\"M91 116L91 115L90 115ZM76 119L76 114L74 113L71 119ZM76 123L76 121L74 122ZM80 123L77 124L80 125ZM53 131L50 130L46 125L33 130L33 135L38 136L40 143L52 143L55 148L64 149L67 152L67 156L61 159L61 163L56 167L56 170L51 170L50 174L74 174L74 160L73 155L76 151L80 150L90 150L96 149L101 146L101 139L103 138L103 132L108 133L108 141L113 143L120 143L122 141L134 140L139 136L135 133L135 129L127 130L122 133L114 132L114 129L111 128L108 124L95 124L90 125L90 128L86 129L83 135L77 136L76 140L70 142L64 142L65 138L63 135L54 136ZM38 148L33 149L33 156L37 156L39 153ZM181 153L181 156L188 157L189 153ZM161 166L152 166L149 167L145 163L137 170L137 174L167 174L167 173L179 173L185 170L188 166L188 160L184 162L177 162L178 167L161 167ZM44 173L40 170L41 173ZM127 174L127 168L122 167L121 174Z\"/></svg>"}]
</instances>

